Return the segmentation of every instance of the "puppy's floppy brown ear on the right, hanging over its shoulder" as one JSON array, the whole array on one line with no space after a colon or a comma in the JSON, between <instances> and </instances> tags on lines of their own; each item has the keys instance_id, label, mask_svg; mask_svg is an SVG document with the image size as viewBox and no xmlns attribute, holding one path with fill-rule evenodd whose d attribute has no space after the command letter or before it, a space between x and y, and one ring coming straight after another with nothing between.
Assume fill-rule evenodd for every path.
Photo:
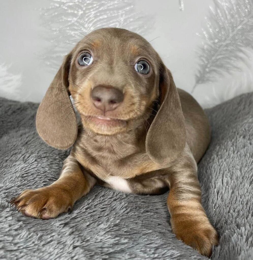
<instances>
[{"instance_id":1,"label":"puppy's floppy brown ear on the right, hanging over its shoulder","mask_svg":"<svg viewBox=\"0 0 253 260\"><path fill-rule=\"evenodd\" d=\"M159 81L160 109L146 137L146 151L151 159L164 163L176 158L185 147L185 119L170 71L162 64Z\"/></svg>"}]
</instances>

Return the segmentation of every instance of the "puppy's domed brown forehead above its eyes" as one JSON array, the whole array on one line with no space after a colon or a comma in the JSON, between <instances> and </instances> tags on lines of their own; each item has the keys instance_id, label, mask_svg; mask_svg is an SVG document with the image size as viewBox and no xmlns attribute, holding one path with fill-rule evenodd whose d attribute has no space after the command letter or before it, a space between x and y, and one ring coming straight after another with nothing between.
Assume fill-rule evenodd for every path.
<instances>
[{"instance_id":1,"label":"puppy's domed brown forehead above its eyes","mask_svg":"<svg viewBox=\"0 0 253 260\"><path fill-rule=\"evenodd\" d=\"M151 59L157 56L156 51L142 36L119 28L102 28L93 31L78 44L79 48L85 45L94 50L118 51L124 55L144 55Z\"/></svg>"}]
</instances>

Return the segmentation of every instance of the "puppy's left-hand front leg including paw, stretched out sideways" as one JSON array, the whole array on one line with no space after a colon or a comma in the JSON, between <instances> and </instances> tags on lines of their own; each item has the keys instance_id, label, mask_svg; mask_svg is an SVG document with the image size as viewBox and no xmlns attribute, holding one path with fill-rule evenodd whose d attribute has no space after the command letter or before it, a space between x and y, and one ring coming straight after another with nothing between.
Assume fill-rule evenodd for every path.
<instances>
[{"instance_id":1,"label":"puppy's left-hand front leg including paw, stretched out sideways","mask_svg":"<svg viewBox=\"0 0 253 260\"><path fill-rule=\"evenodd\" d=\"M53 184L36 190L25 190L11 200L18 211L29 217L50 219L72 209L74 203L87 194L96 180L83 172L72 154L64 161L61 175Z\"/></svg>"}]
</instances>

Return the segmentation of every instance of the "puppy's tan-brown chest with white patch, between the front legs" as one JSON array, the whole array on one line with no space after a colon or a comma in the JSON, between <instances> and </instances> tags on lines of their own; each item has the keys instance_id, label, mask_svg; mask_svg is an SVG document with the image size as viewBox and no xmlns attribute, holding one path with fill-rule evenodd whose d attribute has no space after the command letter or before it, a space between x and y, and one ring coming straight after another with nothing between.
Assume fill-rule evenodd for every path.
<instances>
[{"instance_id":1,"label":"puppy's tan-brown chest with white patch, between the front legs","mask_svg":"<svg viewBox=\"0 0 253 260\"><path fill-rule=\"evenodd\" d=\"M159 170L161 166L152 161L146 152L125 144L114 147L110 143L104 147L79 147L78 161L91 171L106 187L132 192L136 176Z\"/></svg>"}]
</instances>

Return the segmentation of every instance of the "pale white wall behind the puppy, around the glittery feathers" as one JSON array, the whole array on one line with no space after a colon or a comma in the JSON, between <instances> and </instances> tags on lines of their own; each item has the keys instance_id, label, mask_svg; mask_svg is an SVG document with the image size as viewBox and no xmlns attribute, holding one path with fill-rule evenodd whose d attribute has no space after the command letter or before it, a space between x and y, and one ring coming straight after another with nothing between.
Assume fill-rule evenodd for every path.
<instances>
[{"instance_id":1,"label":"pale white wall behind the puppy, around the glittery feathers","mask_svg":"<svg viewBox=\"0 0 253 260\"><path fill-rule=\"evenodd\" d=\"M67 53L73 45L66 44L70 41L68 36L63 40L50 42L66 32L60 28L64 21L53 25L48 24L50 21L55 21L57 17L62 16L63 20L64 17L68 18L69 14L62 12L65 9L61 7L49 10L40 9L47 9L52 4L66 6L71 2L78 1L8 0L1 4L0 96L21 101L41 101L54 77L56 68L60 66L62 55ZM87 3L83 0L82 2L86 4L86 11L84 11L86 14L83 14L85 18L88 17L87 12L90 12L91 9L94 10L94 7L91 8L92 5L95 7L101 5L101 1ZM108 0L107 2L114 3L115 6L112 10L116 14L122 8L125 8L123 11L125 16L135 12L140 13L135 14L134 21L129 24L126 24L127 18L124 16L118 15L115 20L110 17L105 19L100 17L98 26L105 27L114 24L114 26L120 25L133 29L137 24L134 30L140 32L147 40L159 37L151 44L172 71L177 87L191 92L200 62L196 50L202 46L203 41L196 33L201 34L201 28L205 28L207 23L205 17L209 17L209 5L213 6L213 0L184 0L184 11L180 11L178 0L129 0L123 4L123 7L120 3L115 4L117 1ZM105 13L106 6L104 5L105 9L100 10L100 13ZM110 9L107 9L107 12L109 12L109 16L112 14ZM108 15L108 13L106 14ZM140 16L142 18L138 18ZM122 24L120 18L122 18ZM54 27L60 30L57 32L57 30L47 29L45 24L51 29ZM96 27L90 26L89 20L87 20L80 31L89 31L94 28ZM65 41L65 43L61 44L61 41ZM248 54L249 57L251 50ZM60 54L59 57L58 54ZM203 106L208 107L237 94L252 91L252 76L249 73L252 69L252 60L250 58L244 58L244 60L242 63L238 63L242 71L230 72L225 76L218 76L211 83L199 84L193 95ZM245 62L249 63L248 67L244 65Z\"/></svg>"}]
</instances>

